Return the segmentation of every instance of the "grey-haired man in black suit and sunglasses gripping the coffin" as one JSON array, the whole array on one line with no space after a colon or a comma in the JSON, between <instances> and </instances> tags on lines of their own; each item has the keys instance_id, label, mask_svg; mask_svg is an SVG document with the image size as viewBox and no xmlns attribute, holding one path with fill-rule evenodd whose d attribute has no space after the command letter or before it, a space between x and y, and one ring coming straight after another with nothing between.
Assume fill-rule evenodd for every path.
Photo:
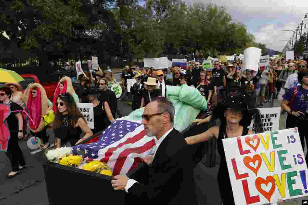
<instances>
[{"instance_id":1,"label":"grey-haired man in black suit and sunglasses gripping the coffin","mask_svg":"<svg viewBox=\"0 0 308 205\"><path fill-rule=\"evenodd\" d=\"M163 97L145 106L142 124L156 141L154 155L144 159L150 166L148 183L117 175L111 180L114 190L125 190L143 204L197 204L193 160L183 136L173 128L174 114L172 102Z\"/></svg>"}]
</instances>

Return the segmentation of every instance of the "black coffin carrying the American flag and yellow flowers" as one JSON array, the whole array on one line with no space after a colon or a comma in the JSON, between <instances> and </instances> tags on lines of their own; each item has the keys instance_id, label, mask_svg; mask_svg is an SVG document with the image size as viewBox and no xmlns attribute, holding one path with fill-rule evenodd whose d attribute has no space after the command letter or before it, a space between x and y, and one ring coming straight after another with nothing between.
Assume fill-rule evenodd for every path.
<instances>
[{"instance_id":1,"label":"black coffin carrying the American flag and yellow flowers","mask_svg":"<svg viewBox=\"0 0 308 205\"><path fill-rule=\"evenodd\" d=\"M199 116L199 118L202 117ZM193 123L182 134L184 137L199 134L204 132L206 127L206 124L196 125L196 123ZM99 136L99 133L91 137L91 139L97 136ZM207 143L191 145L190 149L195 160L195 166L197 166L207 152ZM50 205L66 204L66 200L69 202L68 204L74 205L84 205L90 202L106 203L107 201L116 205L142 203L142 199L141 201L138 199L136 201L129 194L126 194L125 191L114 191L111 187L111 176L63 166L49 161L43 163L43 168ZM127 176L140 183L147 183L148 168L146 164L140 164L128 172ZM102 199L104 200L101 201ZM85 200L88 203L85 203Z\"/></svg>"}]
</instances>

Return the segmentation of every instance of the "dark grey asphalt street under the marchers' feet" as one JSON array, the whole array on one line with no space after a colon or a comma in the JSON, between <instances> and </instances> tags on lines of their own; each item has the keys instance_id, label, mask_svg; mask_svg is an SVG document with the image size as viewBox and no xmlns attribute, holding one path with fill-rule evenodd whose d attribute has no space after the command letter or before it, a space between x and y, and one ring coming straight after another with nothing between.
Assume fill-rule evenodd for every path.
<instances>
[{"instance_id":1,"label":"dark grey asphalt street under the marchers' feet","mask_svg":"<svg viewBox=\"0 0 308 205\"><path fill-rule=\"evenodd\" d=\"M117 75L116 78L119 78ZM275 101L274 106L279 106L279 102ZM128 115L131 112L131 106L126 102L119 101L120 112ZM280 129L285 126L286 114L280 117ZM54 140L54 136L50 134L50 142ZM10 163L4 153L0 153L0 204L2 205L48 205L48 197L43 172L43 162L46 160L43 152L39 150L31 150L27 147L26 142L19 143L26 158L28 168L22 171L12 179L6 179L10 170ZM219 163L219 155L217 153L217 162ZM197 187L197 195L199 204L201 205L218 205L221 203L220 194L217 185L217 172L219 164L214 168L207 168L201 162L195 169L195 179ZM56 177L55 177L56 180ZM59 182L59 185L65 182ZM301 204L301 199L290 200L288 205Z\"/></svg>"}]
</instances>

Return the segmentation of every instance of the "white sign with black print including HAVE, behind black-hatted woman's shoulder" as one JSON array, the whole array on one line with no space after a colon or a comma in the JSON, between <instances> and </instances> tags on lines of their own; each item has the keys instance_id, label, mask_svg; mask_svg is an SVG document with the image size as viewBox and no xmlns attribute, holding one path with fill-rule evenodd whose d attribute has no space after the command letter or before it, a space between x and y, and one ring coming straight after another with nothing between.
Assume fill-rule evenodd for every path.
<instances>
[{"instance_id":1,"label":"white sign with black print including HAVE, behind black-hatted woman's shoulder","mask_svg":"<svg viewBox=\"0 0 308 205\"><path fill-rule=\"evenodd\" d=\"M280 107L258 108L260 111L261 124L255 124L255 116L251 120L249 129L256 133L256 128L263 128L262 132L274 131L279 129Z\"/></svg>"}]
</instances>

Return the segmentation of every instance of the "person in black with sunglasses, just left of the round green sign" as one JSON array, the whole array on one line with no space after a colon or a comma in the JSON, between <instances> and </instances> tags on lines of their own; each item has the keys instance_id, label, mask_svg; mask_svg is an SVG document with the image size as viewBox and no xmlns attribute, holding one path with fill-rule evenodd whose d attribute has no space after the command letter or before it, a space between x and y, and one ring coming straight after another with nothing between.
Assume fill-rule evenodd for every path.
<instances>
[{"instance_id":1,"label":"person in black with sunglasses, just left of the round green sign","mask_svg":"<svg viewBox=\"0 0 308 205\"><path fill-rule=\"evenodd\" d=\"M115 96L115 92L107 89L107 85L107 78L103 77L99 79L97 83L97 87L100 90L99 100L109 104L112 116L114 117L118 108L118 100Z\"/></svg>"}]
</instances>

